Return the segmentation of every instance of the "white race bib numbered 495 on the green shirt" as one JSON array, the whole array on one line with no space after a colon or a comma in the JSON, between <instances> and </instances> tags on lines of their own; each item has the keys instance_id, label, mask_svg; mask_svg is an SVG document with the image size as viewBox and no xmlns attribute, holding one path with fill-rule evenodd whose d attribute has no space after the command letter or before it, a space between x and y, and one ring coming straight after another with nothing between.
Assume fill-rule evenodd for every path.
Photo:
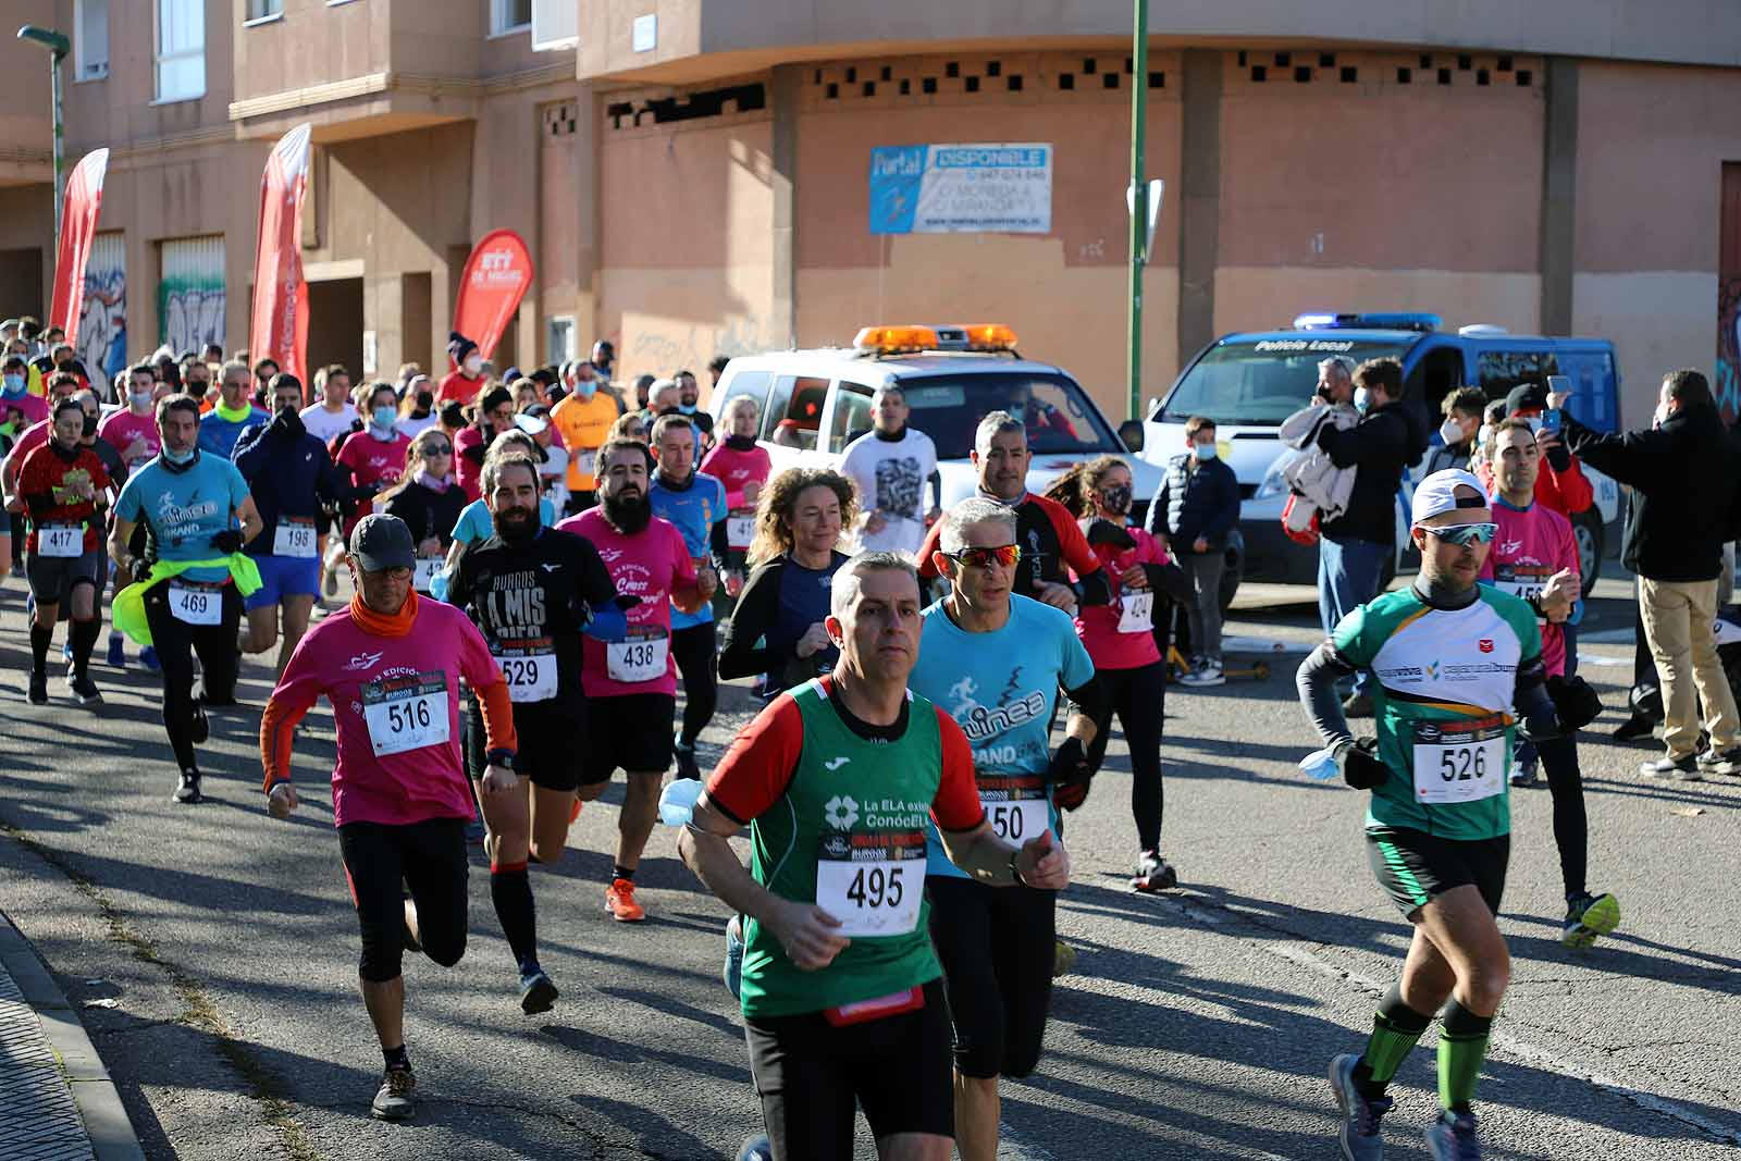
<instances>
[{"instance_id":1,"label":"white race bib numbered 495 on the green shirt","mask_svg":"<svg viewBox=\"0 0 1741 1161\"><path fill-rule=\"evenodd\" d=\"M836 935L907 935L924 900L924 836L823 834L817 849L817 907L841 921Z\"/></svg>"}]
</instances>

